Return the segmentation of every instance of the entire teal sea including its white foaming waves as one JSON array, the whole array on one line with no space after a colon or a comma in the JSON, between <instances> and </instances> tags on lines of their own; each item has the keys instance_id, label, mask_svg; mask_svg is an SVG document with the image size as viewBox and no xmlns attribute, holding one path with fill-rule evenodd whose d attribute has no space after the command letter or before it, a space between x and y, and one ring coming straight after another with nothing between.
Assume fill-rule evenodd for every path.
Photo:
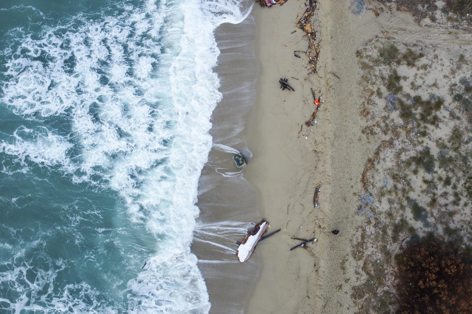
<instances>
[{"instance_id":1,"label":"entire teal sea including its white foaming waves","mask_svg":"<svg viewBox=\"0 0 472 314\"><path fill-rule=\"evenodd\" d=\"M251 0L0 3L0 313L208 313L190 251Z\"/></svg>"}]
</instances>

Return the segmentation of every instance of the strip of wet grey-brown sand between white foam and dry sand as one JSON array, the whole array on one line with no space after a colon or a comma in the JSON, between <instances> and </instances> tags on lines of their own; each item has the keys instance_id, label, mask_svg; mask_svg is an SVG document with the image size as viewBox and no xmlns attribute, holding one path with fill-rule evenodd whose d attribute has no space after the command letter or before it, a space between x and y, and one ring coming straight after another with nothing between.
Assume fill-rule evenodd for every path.
<instances>
[{"instance_id":1,"label":"strip of wet grey-brown sand between white foam and dry sand","mask_svg":"<svg viewBox=\"0 0 472 314\"><path fill-rule=\"evenodd\" d=\"M258 276L257 259L237 261L237 240L242 240L251 222L261 219L258 195L237 169L236 152L251 163L246 138L249 115L255 102L254 19L225 23L215 30L220 50L214 69L220 78L221 102L211 122L213 147L199 179L197 206L200 215L191 250L207 285L210 313L241 313L247 302L247 286Z\"/></svg>"}]
</instances>

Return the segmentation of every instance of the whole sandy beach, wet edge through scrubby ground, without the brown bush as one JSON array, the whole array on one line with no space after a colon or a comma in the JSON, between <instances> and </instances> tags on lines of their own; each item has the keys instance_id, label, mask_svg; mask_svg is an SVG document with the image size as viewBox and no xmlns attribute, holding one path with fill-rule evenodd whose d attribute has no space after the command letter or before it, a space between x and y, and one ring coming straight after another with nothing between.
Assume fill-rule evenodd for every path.
<instances>
[{"instance_id":1,"label":"whole sandy beach, wet edge through scrubby ground, without the brown bush","mask_svg":"<svg viewBox=\"0 0 472 314\"><path fill-rule=\"evenodd\" d=\"M471 204L458 196L472 190L467 163L444 159L472 157L470 22L442 2L413 15L386 1L313 3L313 46L296 26L308 1L256 3L245 24L217 31L224 97L192 247L210 313L392 313L393 256L405 241L430 231L471 241ZM238 36L255 47L239 47ZM314 119L312 90L321 97ZM249 161L241 172L227 162L236 151ZM459 174L452 186L450 171ZM235 263L234 239L261 218L281 232ZM293 237L317 240L290 251Z\"/></svg>"}]
</instances>

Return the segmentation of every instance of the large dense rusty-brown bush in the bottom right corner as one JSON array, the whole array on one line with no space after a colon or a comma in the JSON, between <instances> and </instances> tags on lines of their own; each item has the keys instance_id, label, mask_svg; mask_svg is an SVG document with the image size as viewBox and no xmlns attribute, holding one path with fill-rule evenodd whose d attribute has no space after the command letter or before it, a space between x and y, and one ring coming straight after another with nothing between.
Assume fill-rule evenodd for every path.
<instances>
[{"instance_id":1,"label":"large dense rusty-brown bush in the bottom right corner","mask_svg":"<svg viewBox=\"0 0 472 314\"><path fill-rule=\"evenodd\" d=\"M395 259L398 314L472 313L472 263L459 246L428 235Z\"/></svg>"}]
</instances>

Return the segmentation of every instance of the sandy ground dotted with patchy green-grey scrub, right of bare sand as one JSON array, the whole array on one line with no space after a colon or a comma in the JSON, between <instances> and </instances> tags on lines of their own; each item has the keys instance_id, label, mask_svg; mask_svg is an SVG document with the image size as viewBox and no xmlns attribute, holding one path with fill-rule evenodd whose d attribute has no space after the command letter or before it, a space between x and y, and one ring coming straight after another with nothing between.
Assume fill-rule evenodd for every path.
<instances>
[{"instance_id":1,"label":"sandy ground dotted with patchy green-grey scrub, right of bare sand","mask_svg":"<svg viewBox=\"0 0 472 314\"><path fill-rule=\"evenodd\" d=\"M411 2L425 4L422 9L431 4L427 0ZM442 274L431 272L434 278L428 277L429 266L422 263L434 264L432 257L423 251L423 255L419 251L413 254L415 247L428 248L418 243L423 243L427 237L422 236L433 230L436 235L446 237L444 240L434 238L440 244L432 250L440 255L444 241L457 242L462 236L468 242L472 240L472 174L468 166L472 158L470 63L468 56L459 55L460 52L455 55L439 52L441 57L434 56L438 62L430 66L422 58L426 54L428 59L424 60L431 60L433 52L437 52L434 48L406 46L379 40L356 52L366 91L360 112L366 122L362 126L363 133L380 144L369 154L360 179L361 193L369 195L372 201L367 206L363 204L363 196L360 197L358 214L365 215L366 221L364 226L359 226L362 233L352 255L354 260L363 262L367 281L354 287L352 296L358 302L358 313L472 313L468 308L472 302L466 304L469 301L461 303L453 299L454 293L447 289L447 293L442 293L440 287L447 284L435 277ZM435 77L438 71L447 73L447 80L452 81L448 91L447 86L441 85L443 79ZM393 266L392 255L403 250L405 243L407 248L398 255L401 258L396 259L404 264L398 263L398 267L410 267L409 274L422 269L422 278L427 278L427 282L421 282L422 287L418 288L421 277L412 275L410 279L417 285L401 291L404 294L395 302L393 288L400 272L387 269ZM460 251L454 250L455 253ZM465 251L460 252L461 257L467 256ZM447 263L442 270L455 267L458 260L454 258L451 262L442 259ZM468 267L471 272L471 263ZM454 271L451 270L451 274L464 275ZM438 282L432 284L435 278L439 278ZM406 278L401 280L404 287ZM424 288L427 285L436 285L439 292L432 286ZM422 288L427 290L424 295L420 294ZM430 288L435 295L431 296ZM434 303L429 308L425 295L430 295L429 301ZM416 298L421 299L423 306L414 308L412 300Z\"/></svg>"}]
</instances>

